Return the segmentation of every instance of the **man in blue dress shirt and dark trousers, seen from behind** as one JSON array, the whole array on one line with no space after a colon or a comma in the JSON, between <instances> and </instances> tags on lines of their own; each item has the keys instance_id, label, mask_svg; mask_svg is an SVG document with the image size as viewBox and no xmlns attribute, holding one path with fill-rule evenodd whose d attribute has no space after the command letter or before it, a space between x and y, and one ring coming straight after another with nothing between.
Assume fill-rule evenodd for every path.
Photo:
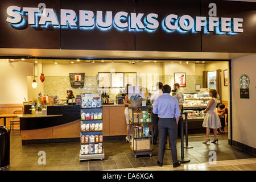
<instances>
[{"instance_id":1,"label":"man in blue dress shirt and dark trousers, seen from behind","mask_svg":"<svg viewBox=\"0 0 256 182\"><path fill-rule=\"evenodd\" d=\"M170 96L171 86L164 85L163 95L158 97L153 106L153 113L158 114L159 146L158 166L163 166L163 157L166 145L167 132L169 135L172 151L172 162L174 167L180 166L177 161L177 125L180 119L180 107L177 98Z\"/></svg>"}]
</instances>

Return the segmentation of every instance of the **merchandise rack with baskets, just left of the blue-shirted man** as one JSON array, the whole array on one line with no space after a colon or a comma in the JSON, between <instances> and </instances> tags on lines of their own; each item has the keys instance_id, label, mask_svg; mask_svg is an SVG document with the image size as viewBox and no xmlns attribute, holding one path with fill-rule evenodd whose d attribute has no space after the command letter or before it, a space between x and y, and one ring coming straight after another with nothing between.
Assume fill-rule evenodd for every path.
<instances>
[{"instance_id":1,"label":"merchandise rack with baskets, just left of the blue-shirted man","mask_svg":"<svg viewBox=\"0 0 256 182\"><path fill-rule=\"evenodd\" d=\"M130 110L131 110L131 116L130 118ZM151 122L134 122L134 110L137 110L137 113L142 113L143 110L147 110L148 113L150 113L150 119ZM138 111L140 110L140 111ZM153 151L153 137L152 135L148 136L142 136L142 137L134 137L134 126L136 125L148 125L151 124L151 132L153 131L153 125L152 125L152 108L151 107L129 107L129 136L130 136L130 142L129 146L131 150L133 151L133 155L135 158L137 158L138 155L150 155L152 156L152 151ZM133 128L133 133L131 133L130 126ZM150 148L145 149L145 150L134 150L134 144L136 140L140 139L151 139L150 141Z\"/></svg>"}]
</instances>

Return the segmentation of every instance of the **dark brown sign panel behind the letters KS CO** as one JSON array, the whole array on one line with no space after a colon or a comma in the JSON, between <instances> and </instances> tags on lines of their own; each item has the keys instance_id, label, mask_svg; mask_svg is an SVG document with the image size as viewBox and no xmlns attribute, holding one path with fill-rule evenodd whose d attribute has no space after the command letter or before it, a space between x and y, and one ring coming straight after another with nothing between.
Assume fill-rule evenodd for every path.
<instances>
[{"instance_id":1,"label":"dark brown sign panel behind the letters KS CO","mask_svg":"<svg viewBox=\"0 0 256 182\"><path fill-rule=\"evenodd\" d=\"M192 17L200 16L200 1L152 1L138 0L135 4L135 11L143 13L144 25L148 23L145 17L148 14L158 14L159 27L156 30L145 28L141 31L137 28L135 36L135 48L138 51L201 51L201 32L193 30L184 31L177 24L176 30L167 28L165 19L168 15L174 14L180 18L181 15ZM175 20L172 19L172 20ZM174 22L172 24L176 24Z\"/></svg>"}]
</instances>

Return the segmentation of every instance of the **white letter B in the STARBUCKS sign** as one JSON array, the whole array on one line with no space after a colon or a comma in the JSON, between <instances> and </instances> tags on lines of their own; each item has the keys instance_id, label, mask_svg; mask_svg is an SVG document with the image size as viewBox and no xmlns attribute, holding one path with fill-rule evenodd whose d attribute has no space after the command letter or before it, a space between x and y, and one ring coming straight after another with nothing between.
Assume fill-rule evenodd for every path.
<instances>
[{"instance_id":1,"label":"white letter B in the STARBUCKS sign","mask_svg":"<svg viewBox=\"0 0 256 182\"><path fill-rule=\"evenodd\" d=\"M79 26L92 27L94 26L94 14L92 11L79 11Z\"/></svg>"}]
</instances>

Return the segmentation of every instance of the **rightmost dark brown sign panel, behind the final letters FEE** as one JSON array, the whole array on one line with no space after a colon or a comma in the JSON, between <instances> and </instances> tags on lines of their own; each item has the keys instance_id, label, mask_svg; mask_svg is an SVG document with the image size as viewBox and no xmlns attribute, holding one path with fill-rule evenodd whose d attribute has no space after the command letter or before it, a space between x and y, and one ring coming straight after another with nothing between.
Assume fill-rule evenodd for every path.
<instances>
[{"instance_id":1,"label":"rightmost dark brown sign panel, behind the final letters FEE","mask_svg":"<svg viewBox=\"0 0 256 182\"><path fill-rule=\"evenodd\" d=\"M216 3L216 16L225 18L242 18L241 33L207 32L202 34L203 52L256 52L256 3L237 1L201 1L202 16L208 16L208 5ZM233 22L230 22L232 26ZM233 29L233 27L231 27ZM229 26L228 26L229 27ZM221 28L221 22L219 23Z\"/></svg>"}]
</instances>

